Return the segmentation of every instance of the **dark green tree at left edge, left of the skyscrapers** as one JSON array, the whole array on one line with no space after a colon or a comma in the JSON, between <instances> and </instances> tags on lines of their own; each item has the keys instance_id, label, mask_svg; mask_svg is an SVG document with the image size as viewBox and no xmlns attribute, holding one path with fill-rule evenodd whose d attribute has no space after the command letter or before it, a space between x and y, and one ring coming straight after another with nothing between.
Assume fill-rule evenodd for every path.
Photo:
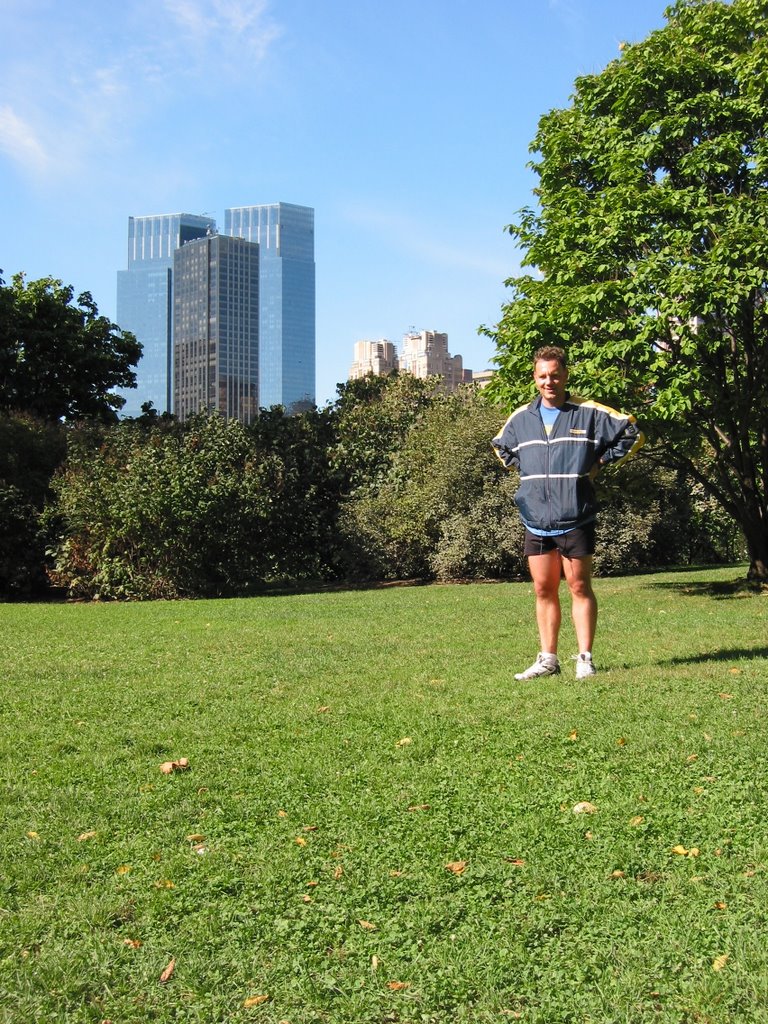
<instances>
[{"instance_id":1,"label":"dark green tree at left edge, left of the skyscrapers","mask_svg":"<svg viewBox=\"0 0 768 1024\"><path fill-rule=\"evenodd\" d=\"M141 346L52 278L0 279L0 410L46 420L117 419L114 388L136 383Z\"/></svg>"}]
</instances>

